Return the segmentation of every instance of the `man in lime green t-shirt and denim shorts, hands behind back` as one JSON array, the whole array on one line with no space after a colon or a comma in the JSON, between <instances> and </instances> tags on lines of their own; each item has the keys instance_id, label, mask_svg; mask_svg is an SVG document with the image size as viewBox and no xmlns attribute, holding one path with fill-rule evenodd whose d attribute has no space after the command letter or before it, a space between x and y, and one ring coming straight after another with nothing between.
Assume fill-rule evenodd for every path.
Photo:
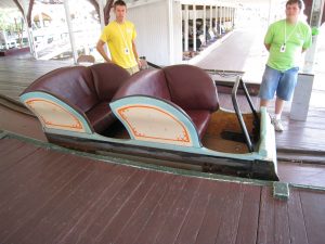
<instances>
[{"instance_id":1,"label":"man in lime green t-shirt and denim shorts, hands behind back","mask_svg":"<svg viewBox=\"0 0 325 244\"><path fill-rule=\"evenodd\" d=\"M301 53L312 44L311 28L306 22L299 20L302 9L302 0L288 0L286 18L270 25L264 37L269 60L259 93L260 106L268 106L276 93L275 115L272 117L276 131L284 130L281 114L285 101L291 100Z\"/></svg>"}]
</instances>

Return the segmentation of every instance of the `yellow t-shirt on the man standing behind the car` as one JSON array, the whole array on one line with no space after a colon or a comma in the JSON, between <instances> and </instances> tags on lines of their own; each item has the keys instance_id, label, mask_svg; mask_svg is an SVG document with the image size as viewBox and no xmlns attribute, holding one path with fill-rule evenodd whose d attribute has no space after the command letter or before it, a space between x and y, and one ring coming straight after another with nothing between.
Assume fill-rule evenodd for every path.
<instances>
[{"instance_id":1,"label":"yellow t-shirt on the man standing behind the car","mask_svg":"<svg viewBox=\"0 0 325 244\"><path fill-rule=\"evenodd\" d=\"M132 40L136 37L134 25L125 21L118 24L110 22L103 29L101 40L106 42L110 52L112 61L123 67L134 67L138 63L132 49Z\"/></svg>"}]
</instances>

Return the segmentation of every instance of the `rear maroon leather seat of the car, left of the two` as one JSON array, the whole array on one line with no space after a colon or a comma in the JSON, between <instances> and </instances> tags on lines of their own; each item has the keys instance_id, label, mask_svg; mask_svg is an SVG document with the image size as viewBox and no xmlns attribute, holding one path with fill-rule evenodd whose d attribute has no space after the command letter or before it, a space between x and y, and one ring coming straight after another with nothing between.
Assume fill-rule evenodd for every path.
<instances>
[{"instance_id":1,"label":"rear maroon leather seat of the car, left of the two","mask_svg":"<svg viewBox=\"0 0 325 244\"><path fill-rule=\"evenodd\" d=\"M23 93L50 93L83 114L94 131L102 132L116 120L109 102L129 76L123 68L107 63L63 67L41 76Z\"/></svg>"}]
</instances>

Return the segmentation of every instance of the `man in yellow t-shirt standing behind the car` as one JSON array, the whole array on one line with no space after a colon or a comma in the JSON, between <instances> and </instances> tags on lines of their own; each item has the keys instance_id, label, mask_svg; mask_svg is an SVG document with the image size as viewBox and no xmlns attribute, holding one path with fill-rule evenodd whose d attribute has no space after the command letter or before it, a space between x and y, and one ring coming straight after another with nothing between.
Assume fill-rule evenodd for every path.
<instances>
[{"instance_id":1,"label":"man in yellow t-shirt standing behind the car","mask_svg":"<svg viewBox=\"0 0 325 244\"><path fill-rule=\"evenodd\" d=\"M139 72L141 66L134 43L135 27L133 23L126 20L127 4L122 0L116 1L113 8L116 20L105 26L96 49L106 62L113 62L132 75ZM112 60L105 53L105 43L108 46Z\"/></svg>"}]
</instances>

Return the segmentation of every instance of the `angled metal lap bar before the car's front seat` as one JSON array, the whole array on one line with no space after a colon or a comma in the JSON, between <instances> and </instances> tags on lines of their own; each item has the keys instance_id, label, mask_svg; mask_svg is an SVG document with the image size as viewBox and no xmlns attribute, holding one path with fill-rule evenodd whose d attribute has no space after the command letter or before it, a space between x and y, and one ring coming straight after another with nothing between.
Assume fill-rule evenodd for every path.
<instances>
[{"instance_id":1,"label":"angled metal lap bar before the car's front seat","mask_svg":"<svg viewBox=\"0 0 325 244\"><path fill-rule=\"evenodd\" d=\"M234 110L235 110L235 113L237 115L237 118L238 118L238 121L239 121L239 125L240 125L240 128L243 130L243 133L245 136L245 141L246 141L246 144L247 144L247 147L249 150L249 152L253 152L253 144L250 140L250 137L249 137L249 133L247 131L247 128L246 128L246 125L245 125L245 121L244 121L244 118L243 118L243 115L240 113L240 110L239 110L239 106L238 106L238 102L237 102L237 91L238 91L238 87L242 87L242 89L244 90L244 93L245 93L245 97L248 101L248 104L250 106L250 110L253 114L253 124L256 127L259 127L260 125L260 118L252 105L252 102L251 102L251 99L249 97L249 93L247 91L247 88L246 88L246 85L245 82L243 81L242 77L240 76L237 76L236 78L236 81L235 81L235 85L233 87L233 90L232 90L232 101L233 101L233 106L234 106ZM259 131L259 130L258 130Z\"/></svg>"}]
</instances>

